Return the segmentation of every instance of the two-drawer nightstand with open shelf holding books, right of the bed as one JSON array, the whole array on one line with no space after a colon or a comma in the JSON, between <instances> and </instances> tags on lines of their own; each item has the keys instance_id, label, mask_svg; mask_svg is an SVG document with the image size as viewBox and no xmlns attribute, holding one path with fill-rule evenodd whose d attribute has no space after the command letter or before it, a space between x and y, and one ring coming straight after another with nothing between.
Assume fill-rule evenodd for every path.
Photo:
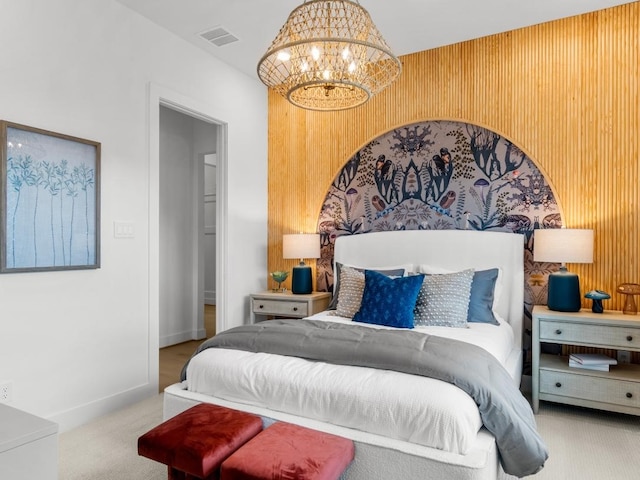
<instances>
[{"instance_id":1,"label":"two-drawer nightstand with open shelf holding books, right of the bed","mask_svg":"<svg viewBox=\"0 0 640 480\"><path fill-rule=\"evenodd\" d=\"M566 356L541 354L540 343L640 351L640 317L591 310L533 308L533 411L540 400L640 415L640 365L612 365L608 372L569 367Z\"/></svg>"}]
</instances>

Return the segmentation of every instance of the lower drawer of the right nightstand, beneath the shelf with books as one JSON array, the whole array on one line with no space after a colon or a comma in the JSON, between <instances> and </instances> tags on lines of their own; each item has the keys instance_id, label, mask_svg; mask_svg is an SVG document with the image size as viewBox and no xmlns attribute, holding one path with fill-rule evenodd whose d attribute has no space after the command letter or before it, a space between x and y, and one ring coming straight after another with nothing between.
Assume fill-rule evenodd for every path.
<instances>
[{"instance_id":1,"label":"lower drawer of the right nightstand, beneath the shelf with books","mask_svg":"<svg viewBox=\"0 0 640 480\"><path fill-rule=\"evenodd\" d=\"M640 384L604 376L541 369L540 393L640 407Z\"/></svg>"}]
</instances>

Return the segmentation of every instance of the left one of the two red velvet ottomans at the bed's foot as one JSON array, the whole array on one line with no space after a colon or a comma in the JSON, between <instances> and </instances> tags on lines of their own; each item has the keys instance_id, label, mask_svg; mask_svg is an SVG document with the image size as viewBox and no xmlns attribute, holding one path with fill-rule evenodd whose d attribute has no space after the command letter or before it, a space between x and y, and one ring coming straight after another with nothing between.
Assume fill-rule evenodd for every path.
<instances>
[{"instance_id":1,"label":"left one of the two red velvet ottomans at the bed's foot","mask_svg":"<svg viewBox=\"0 0 640 480\"><path fill-rule=\"evenodd\" d=\"M167 465L169 480L214 480L222 462L260 431L257 415L201 403L138 438L138 455Z\"/></svg>"}]
</instances>

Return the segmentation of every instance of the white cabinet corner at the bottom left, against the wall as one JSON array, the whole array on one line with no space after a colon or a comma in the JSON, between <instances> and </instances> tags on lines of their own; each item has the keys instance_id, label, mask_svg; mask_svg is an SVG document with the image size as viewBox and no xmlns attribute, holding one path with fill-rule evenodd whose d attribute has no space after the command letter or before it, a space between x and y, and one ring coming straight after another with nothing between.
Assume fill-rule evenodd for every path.
<instances>
[{"instance_id":1,"label":"white cabinet corner at the bottom left, against the wall","mask_svg":"<svg viewBox=\"0 0 640 480\"><path fill-rule=\"evenodd\" d=\"M0 478L57 480L58 425L0 404Z\"/></svg>"}]
</instances>

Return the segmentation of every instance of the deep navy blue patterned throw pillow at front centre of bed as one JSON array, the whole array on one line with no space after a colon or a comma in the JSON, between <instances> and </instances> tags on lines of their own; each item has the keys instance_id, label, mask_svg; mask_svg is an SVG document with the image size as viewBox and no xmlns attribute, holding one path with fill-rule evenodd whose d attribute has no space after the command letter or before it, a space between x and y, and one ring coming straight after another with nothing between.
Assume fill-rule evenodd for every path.
<instances>
[{"instance_id":1,"label":"deep navy blue patterned throw pillow at front centre of bed","mask_svg":"<svg viewBox=\"0 0 640 480\"><path fill-rule=\"evenodd\" d=\"M364 292L354 322L413 328L413 307L424 275L390 278L373 270L364 272Z\"/></svg>"}]
</instances>

